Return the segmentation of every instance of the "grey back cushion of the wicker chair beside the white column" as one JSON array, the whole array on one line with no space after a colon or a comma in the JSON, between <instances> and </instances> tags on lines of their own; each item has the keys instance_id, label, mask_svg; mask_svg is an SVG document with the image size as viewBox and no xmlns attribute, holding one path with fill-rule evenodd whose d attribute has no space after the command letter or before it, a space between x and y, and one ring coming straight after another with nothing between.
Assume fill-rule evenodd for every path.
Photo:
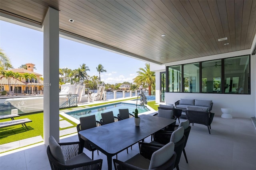
<instances>
[{"instance_id":1,"label":"grey back cushion of the wicker chair beside the white column","mask_svg":"<svg viewBox=\"0 0 256 170\"><path fill-rule=\"evenodd\" d=\"M56 142L56 140L53 136L49 137L49 147L50 147L50 151L52 153L52 156L56 160L58 160L60 163L66 164L62 149L61 149L60 145Z\"/></svg>"}]
</instances>

